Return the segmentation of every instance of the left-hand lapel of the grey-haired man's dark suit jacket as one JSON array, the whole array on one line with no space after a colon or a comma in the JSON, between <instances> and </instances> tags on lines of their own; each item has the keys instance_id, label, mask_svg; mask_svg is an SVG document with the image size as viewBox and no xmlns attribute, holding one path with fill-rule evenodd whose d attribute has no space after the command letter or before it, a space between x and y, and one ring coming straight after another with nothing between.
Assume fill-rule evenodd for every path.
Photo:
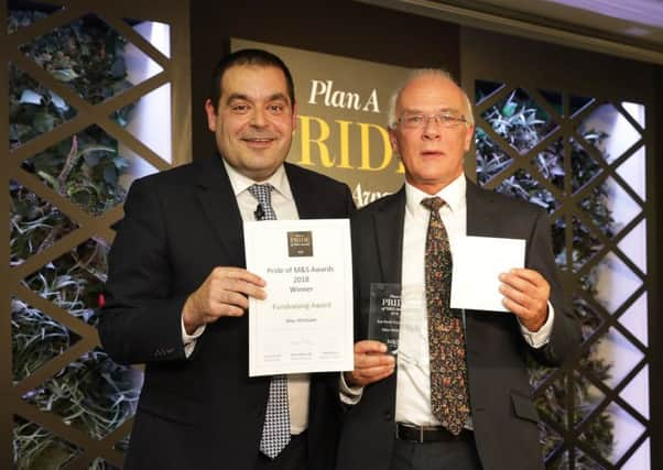
<instances>
[{"instance_id":1,"label":"left-hand lapel of the grey-haired man's dark suit jacket","mask_svg":"<svg viewBox=\"0 0 663 470\"><path fill-rule=\"evenodd\" d=\"M396 194L388 196L373 215L380 271L387 283L401 283L404 218L405 186L402 186Z\"/></svg>"}]
</instances>

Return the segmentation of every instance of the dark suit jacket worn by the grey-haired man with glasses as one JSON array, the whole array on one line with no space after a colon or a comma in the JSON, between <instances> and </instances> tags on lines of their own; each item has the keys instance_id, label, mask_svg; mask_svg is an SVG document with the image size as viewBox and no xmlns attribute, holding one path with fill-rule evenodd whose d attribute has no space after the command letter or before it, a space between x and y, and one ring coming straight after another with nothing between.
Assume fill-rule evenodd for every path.
<instances>
[{"instance_id":1,"label":"dark suit jacket worn by the grey-haired man with glasses","mask_svg":"<svg viewBox=\"0 0 663 470\"><path fill-rule=\"evenodd\" d=\"M357 339L365 339L368 332L371 283L401 282L404 215L403 187L352 217ZM576 350L580 330L563 298L545 212L468 182L467 234L526 240L525 265L548 281L555 308L548 345L532 352L544 363L559 364ZM467 310L466 331L471 417L483 468L543 468L537 414L525 369L525 353L531 348L515 316ZM368 385L360 402L345 413L338 470L390 468L396 373Z\"/></svg>"}]
</instances>

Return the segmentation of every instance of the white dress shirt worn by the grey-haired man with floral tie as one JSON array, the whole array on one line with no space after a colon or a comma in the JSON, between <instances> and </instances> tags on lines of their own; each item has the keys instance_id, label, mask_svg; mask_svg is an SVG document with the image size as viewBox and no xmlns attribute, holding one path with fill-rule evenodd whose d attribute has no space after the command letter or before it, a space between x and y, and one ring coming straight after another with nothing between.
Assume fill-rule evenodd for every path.
<instances>
[{"instance_id":1,"label":"white dress shirt worn by the grey-haired man with floral tie","mask_svg":"<svg viewBox=\"0 0 663 470\"><path fill-rule=\"evenodd\" d=\"M465 175L461 175L436 195L446 203L439 209L439 217L449 237L452 254L457 240L467 233L466 186ZM431 211L421 204L428 197L431 195L405 183L395 420L421 426L441 424L431 408L428 319L424 271L426 233ZM548 318L539 331L529 331L521 325L523 337L530 346L541 348L547 343L553 317L554 310L548 303ZM344 403L356 404L361 398L362 390L348 387L343 374L340 391ZM471 423L468 423L468 426L471 427Z\"/></svg>"}]
</instances>

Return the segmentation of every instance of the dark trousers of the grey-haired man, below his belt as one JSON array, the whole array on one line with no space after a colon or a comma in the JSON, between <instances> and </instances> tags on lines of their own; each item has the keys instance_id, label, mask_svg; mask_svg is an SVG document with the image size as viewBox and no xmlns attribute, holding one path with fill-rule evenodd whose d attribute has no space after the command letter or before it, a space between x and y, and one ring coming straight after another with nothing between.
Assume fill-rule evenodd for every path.
<instances>
[{"instance_id":1,"label":"dark trousers of the grey-haired man, below his belt","mask_svg":"<svg viewBox=\"0 0 663 470\"><path fill-rule=\"evenodd\" d=\"M390 470L481 470L475 440L414 442L394 439Z\"/></svg>"}]
</instances>

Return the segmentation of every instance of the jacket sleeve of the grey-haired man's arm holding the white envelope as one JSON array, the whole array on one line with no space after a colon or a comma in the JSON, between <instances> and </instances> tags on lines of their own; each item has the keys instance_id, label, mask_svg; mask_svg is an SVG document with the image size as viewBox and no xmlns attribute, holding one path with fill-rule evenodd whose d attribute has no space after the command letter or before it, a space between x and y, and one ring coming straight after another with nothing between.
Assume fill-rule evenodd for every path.
<instances>
[{"instance_id":1,"label":"jacket sleeve of the grey-haired man's arm holding the white envelope","mask_svg":"<svg viewBox=\"0 0 663 470\"><path fill-rule=\"evenodd\" d=\"M577 351L580 345L580 324L573 313L559 278L559 271L553 254L551 225L543 210L537 211L530 238L528 267L539 271L548 282L551 286L550 302L555 309L550 340L543 348L533 350L534 356L546 365L561 365Z\"/></svg>"}]
</instances>

